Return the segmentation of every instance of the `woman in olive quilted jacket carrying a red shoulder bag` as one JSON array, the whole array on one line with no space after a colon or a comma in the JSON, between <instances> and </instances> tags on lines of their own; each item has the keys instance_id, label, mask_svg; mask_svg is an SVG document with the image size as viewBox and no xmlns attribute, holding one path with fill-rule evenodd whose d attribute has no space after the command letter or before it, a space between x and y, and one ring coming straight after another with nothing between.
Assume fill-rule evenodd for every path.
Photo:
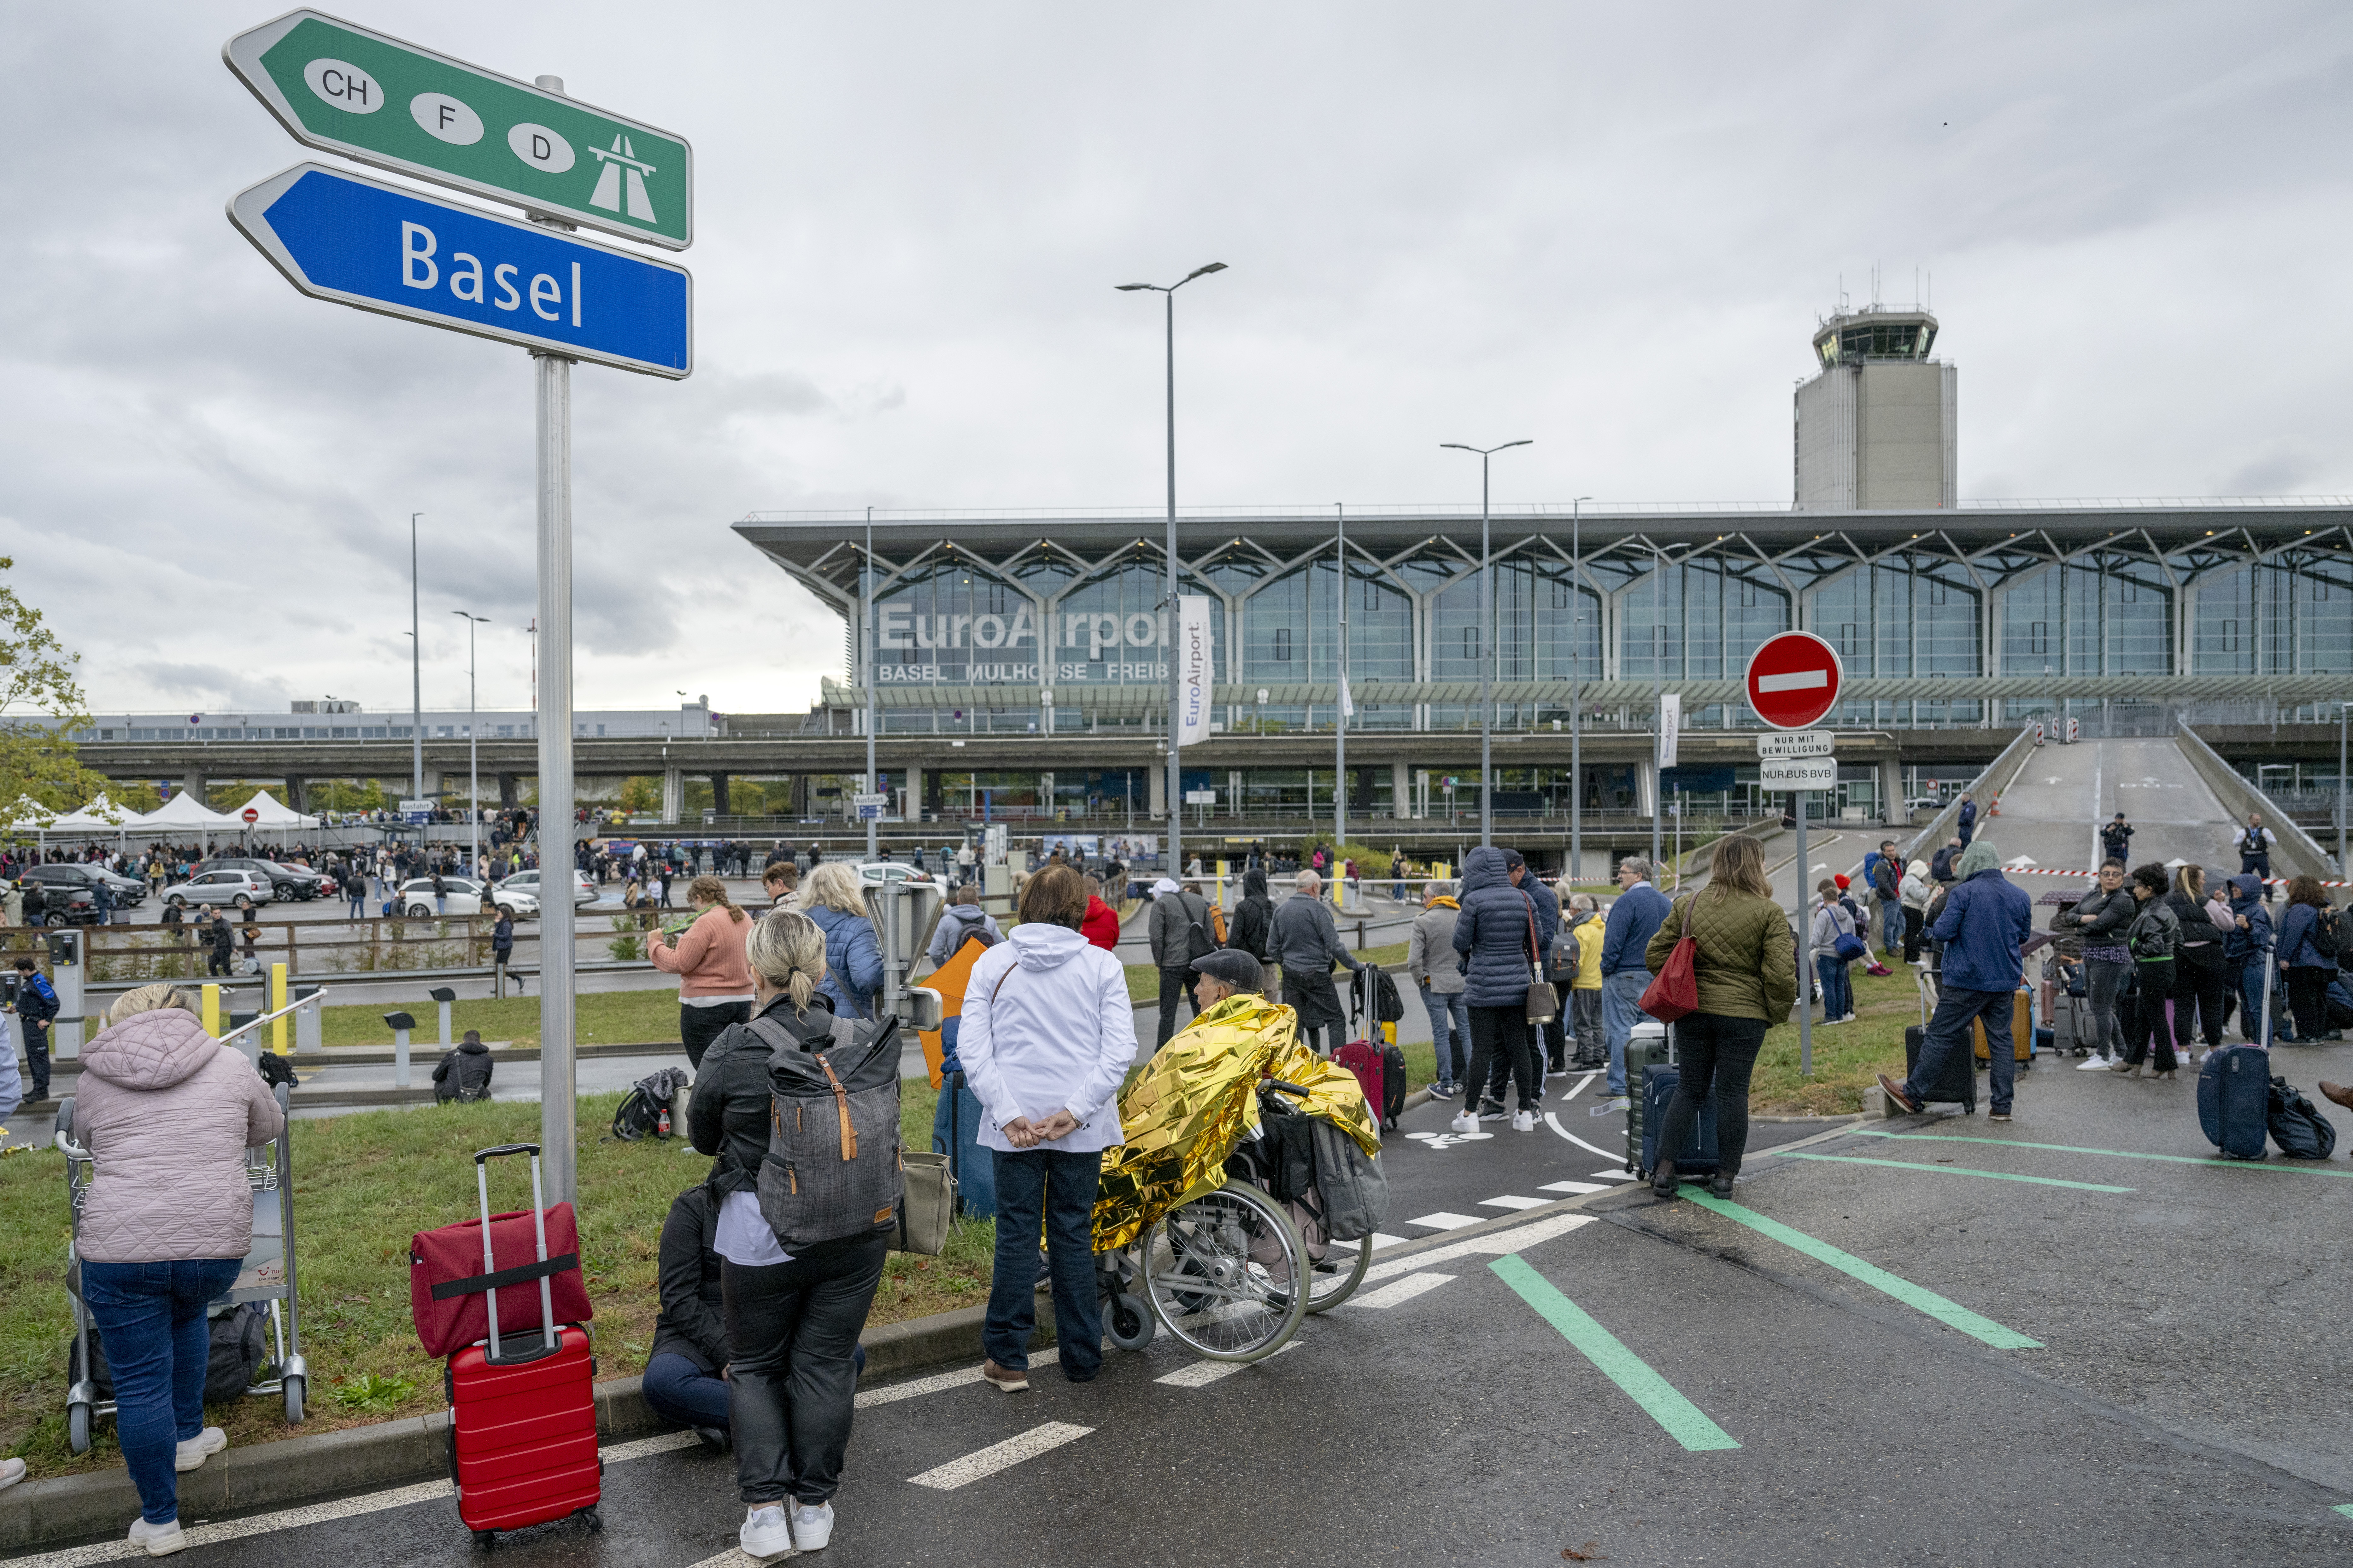
<instances>
[{"instance_id":1,"label":"woman in olive quilted jacket carrying a red shoulder bag","mask_svg":"<svg viewBox=\"0 0 2353 1568\"><path fill-rule=\"evenodd\" d=\"M1652 1166L1649 1187L1664 1199L1675 1197L1675 1159L1668 1152L1692 1135L1699 1100L1713 1088L1718 1164L1711 1190L1727 1197L1748 1150L1748 1074L1765 1048L1765 1030L1786 1023L1798 1001L1798 936L1774 903L1765 851L1744 835L1715 842L1708 886L1678 898L1673 914L1649 938L1649 973L1666 969L1685 922L1699 947L1692 966L1699 1011L1675 1023L1682 1079L1659 1124L1661 1157ZM1642 1093L1640 1086L1628 1088Z\"/></svg>"}]
</instances>

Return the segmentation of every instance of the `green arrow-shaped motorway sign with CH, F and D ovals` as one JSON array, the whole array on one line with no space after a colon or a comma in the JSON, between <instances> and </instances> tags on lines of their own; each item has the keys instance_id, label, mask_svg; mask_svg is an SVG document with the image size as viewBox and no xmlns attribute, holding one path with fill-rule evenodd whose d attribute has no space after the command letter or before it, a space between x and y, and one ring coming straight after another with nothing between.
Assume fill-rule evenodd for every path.
<instances>
[{"instance_id":1,"label":"green arrow-shaped motorway sign with CH, F and D ovals","mask_svg":"<svg viewBox=\"0 0 2353 1568\"><path fill-rule=\"evenodd\" d=\"M671 132L320 12L238 33L221 59L308 148L581 228L694 244L694 148Z\"/></svg>"}]
</instances>

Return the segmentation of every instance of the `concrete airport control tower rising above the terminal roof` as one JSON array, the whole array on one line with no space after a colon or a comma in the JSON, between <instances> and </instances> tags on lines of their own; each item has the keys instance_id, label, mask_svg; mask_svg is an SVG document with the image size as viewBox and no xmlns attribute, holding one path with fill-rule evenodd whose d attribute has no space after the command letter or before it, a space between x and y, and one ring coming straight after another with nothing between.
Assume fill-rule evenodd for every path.
<instances>
[{"instance_id":1,"label":"concrete airport control tower rising above the terminal roof","mask_svg":"<svg viewBox=\"0 0 2353 1568\"><path fill-rule=\"evenodd\" d=\"M1927 310L1840 313L1814 331L1821 374L1798 388L1800 512L1885 512L1955 503L1955 383L1929 360Z\"/></svg>"}]
</instances>

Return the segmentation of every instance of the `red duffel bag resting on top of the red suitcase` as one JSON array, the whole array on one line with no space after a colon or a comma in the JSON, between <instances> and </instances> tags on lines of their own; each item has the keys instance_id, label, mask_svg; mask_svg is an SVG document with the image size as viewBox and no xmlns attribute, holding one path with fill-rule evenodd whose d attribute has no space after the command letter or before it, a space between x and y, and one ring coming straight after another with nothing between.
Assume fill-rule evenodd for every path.
<instances>
[{"instance_id":1,"label":"red duffel bag resting on top of the red suitcase","mask_svg":"<svg viewBox=\"0 0 2353 1568\"><path fill-rule=\"evenodd\" d=\"M409 1239L409 1312L428 1356L452 1356L489 1338L489 1295L499 1295L499 1335L541 1326L539 1281L558 1324L586 1324L588 1286L581 1279L579 1220L572 1204L546 1211L548 1253L539 1260L532 1211L489 1215L496 1269L482 1267L482 1220L421 1229Z\"/></svg>"}]
</instances>

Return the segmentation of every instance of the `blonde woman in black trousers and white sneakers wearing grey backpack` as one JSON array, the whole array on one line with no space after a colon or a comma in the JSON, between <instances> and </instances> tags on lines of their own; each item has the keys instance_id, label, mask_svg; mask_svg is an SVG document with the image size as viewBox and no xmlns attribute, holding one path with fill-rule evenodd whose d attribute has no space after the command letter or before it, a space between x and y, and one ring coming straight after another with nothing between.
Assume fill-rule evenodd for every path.
<instances>
[{"instance_id":1,"label":"blonde woman in black trousers and white sneakers wearing grey backpack","mask_svg":"<svg viewBox=\"0 0 2353 1568\"><path fill-rule=\"evenodd\" d=\"M772 1164L774 1112L784 1105L776 1084L798 1077L795 1067L814 1070L812 1051L833 1053L864 1032L847 1018L835 1020L819 994L826 933L807 914L776 910L751 922L744 957L753 1016L729 1025L704 1056L687 1131L699 1154L718 1157L708 1185L720 1204L713 1251L722 1258L727 1427L746 1514L739 1542L746 1556L760 1559L816 1552L833 1537L833 1493L856 1401L859 1331L882 1284L896 1211L878 1206L871 1225L786 1251L762 1208L762 1197L774 1197L762 1194L762 1166ZM896 1072L892 1060L892 1088ZM861 1152L849 1128L840 1161L861 1154L887 1161L894 1204L894 1095L889 1105L889 1126L866 1128L873 1147ZM793 1166L769 1171L769 1182L779 1180L791 1182Z\"/></svg>"}]
</instances>

